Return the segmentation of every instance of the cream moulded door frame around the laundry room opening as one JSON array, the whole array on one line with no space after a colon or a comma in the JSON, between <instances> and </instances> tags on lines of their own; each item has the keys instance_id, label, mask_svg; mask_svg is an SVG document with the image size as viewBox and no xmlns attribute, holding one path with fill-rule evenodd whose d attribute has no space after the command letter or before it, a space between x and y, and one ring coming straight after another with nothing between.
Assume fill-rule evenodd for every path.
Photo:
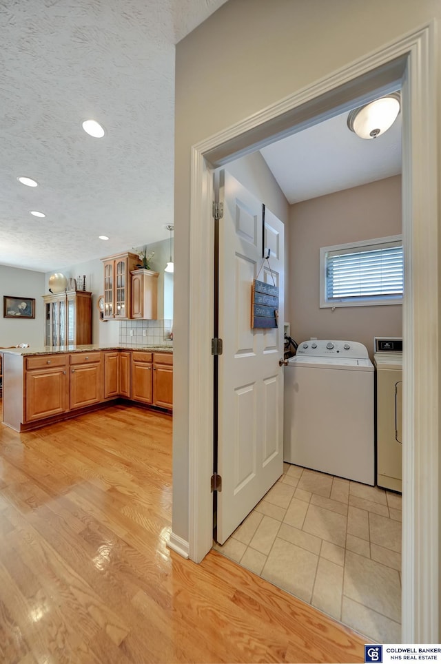
<instances>
[{"instance_id":1,"label":"cream moulded door frame around the laundry room opening","mask_svg":"<svg viewBox=\"0 0 441 664\"><path fill-rule=\"evenodd\" d=\"M256 149L402 85L403 535L402 640L439 639L438 165L435 23L192 147L189 247L189 557L212 548L212 172ZM209 279L209 283L212 280Z\"/></svg>"}]
</instances>

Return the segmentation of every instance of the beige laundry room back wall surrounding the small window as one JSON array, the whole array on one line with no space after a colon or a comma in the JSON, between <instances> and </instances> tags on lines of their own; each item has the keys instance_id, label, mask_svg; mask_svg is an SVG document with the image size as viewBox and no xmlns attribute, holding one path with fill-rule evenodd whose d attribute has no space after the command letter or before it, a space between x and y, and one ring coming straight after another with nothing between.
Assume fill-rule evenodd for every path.
<instances>
[{"instance_id":1,"label":"beige laundry room back wall surrounding the small window","mask_svg":"<svg viewBox=\"0 0 441 664\"><path fill-rule=\"evenodd\" d=\"M353 187L291 206L287 320L298 343L310 337L367 346L374 336L402 336L402 307L320 309L320 247L401 233L401 177Z\"/></svg>"}]
</instances>

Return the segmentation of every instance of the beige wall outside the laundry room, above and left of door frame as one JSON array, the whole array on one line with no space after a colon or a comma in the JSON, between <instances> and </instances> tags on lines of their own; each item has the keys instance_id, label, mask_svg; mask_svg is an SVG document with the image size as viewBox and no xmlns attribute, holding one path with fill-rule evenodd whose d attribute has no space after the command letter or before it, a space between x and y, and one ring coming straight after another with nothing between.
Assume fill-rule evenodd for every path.
<instances>
[{"instance_id":1,"label":"beige wall outside the laundry room, above and left of door frame","mask_svg":"<svg viewBox=\"0 0 441 664\"><path fill-rule=\"evenodd\" d=\"M230 0L176 47L173 530L183 539L190 490L191 147L434 17L441 18L439 0ZM439 93L438 79L438 100ZM438 123L441 129L441 117Z\"/></svg>"}]
</instances>

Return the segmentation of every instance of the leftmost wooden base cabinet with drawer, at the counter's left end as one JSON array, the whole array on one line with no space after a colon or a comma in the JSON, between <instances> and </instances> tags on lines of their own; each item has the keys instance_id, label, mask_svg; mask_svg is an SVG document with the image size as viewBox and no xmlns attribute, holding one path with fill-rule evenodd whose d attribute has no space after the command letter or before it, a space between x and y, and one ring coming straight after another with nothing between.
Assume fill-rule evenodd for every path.
<instances>
[{"instance_id":1,"label":"leftmost wooden base cabinet with drawer, at the counter's left end","mask_svg":"<svg viewBox=\"0 0 441 664\"><path fill-rule=\"evenodd\" d=\"M25 422L68 410L68 355L41 355L25 360Z\"/></svg>"}]
</instances>

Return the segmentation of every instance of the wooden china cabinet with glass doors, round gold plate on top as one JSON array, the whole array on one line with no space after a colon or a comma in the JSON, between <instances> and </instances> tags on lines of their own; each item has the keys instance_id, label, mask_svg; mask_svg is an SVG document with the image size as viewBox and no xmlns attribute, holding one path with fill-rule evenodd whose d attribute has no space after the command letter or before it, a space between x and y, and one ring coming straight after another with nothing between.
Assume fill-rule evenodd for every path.
<instances>
[{"instance_id":1,"label":"wooden china cabinet with glass doors, round gold plate on top","mask_svg":"<svg viewBox=\"0 0 441 664\"><path fill-rule=\"evenodd\" d=\"M45 346L92 343L92 293L65 291L43 295Z\"/></svg>"}]
</instances>

